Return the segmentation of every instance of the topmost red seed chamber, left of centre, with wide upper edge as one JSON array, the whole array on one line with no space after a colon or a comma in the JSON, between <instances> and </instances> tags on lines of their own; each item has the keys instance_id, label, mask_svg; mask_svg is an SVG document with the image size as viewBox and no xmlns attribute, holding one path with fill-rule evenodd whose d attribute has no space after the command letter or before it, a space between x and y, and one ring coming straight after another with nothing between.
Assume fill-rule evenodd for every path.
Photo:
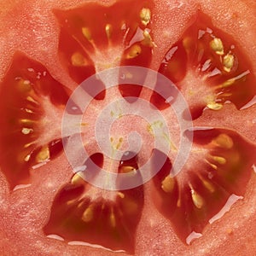
<instances>
[{"instance_id":1,"label":"topmost red seed chamber, left of centre, with wide upper edge","mask_svg":"<svg viewBox=\"0 0 256 256\"><path fill-rule=\"evenodd\" d=\"M81 83L84 79L96 73L96 66L101 66L103 63L95 63L92 59L101 51L108 55L109 61L117 61L120 66L149 67L153 45L144 42L145 39L142 33L145 28L150 31L150 24L145 26L141 23L139 12L142 8L149 8L151 5L150 2L126 1L115 3L111 8L89 3L84 8L67 11L56 10L55 15L61 26L59 54L70 76L76 82ZM106 33L107 25L111 26L110 38ZM89 31L89 38L84 36L83 28ZM123 47L122 55L113 60L114 53L108 52L108 49L120 47L120 45ZM127 58L126 56L129 55L134 45L139 45L140 54ZM74 53L83 55L86 64L79 67L74 66L71 61ZM142 79L138 81L140 84L143 82ZM121 79L119 83L119 91L122 96L138 97L140 95L142 86L121 84ZM95 86L98 90L101 90L101 93L95 98L97 100L104 99L106 92L104 84L100 80L98 83L92 84L90 88L85 88L85 90L92 95L93 92L90 90L91 88L95 90Z\"/></svg>"}]
</instances>

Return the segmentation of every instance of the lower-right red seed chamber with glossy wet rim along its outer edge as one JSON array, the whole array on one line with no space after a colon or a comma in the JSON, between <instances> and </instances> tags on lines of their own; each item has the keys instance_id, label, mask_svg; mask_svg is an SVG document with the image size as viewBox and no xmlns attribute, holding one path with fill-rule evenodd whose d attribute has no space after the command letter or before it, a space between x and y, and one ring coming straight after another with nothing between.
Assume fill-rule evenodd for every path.
<instances>
[{"instance_id":1,"label":"lower-right red seed chamber with glossy wet rim along its outer edge","mask_svg":"<svg viewBox=\"0 0 256 256\"><path fill-rule=\"evenodd\" d=\"M201 128L194 130L194 147L181 172L173 175L171 160L166 159L154 177L158 194L153 199L183 241L201 236L205 226L225 212L225 204L230 207L230 202L242 198L255 149L234 131ZM154 151L153 168L161 154Z\"/></svg>"}]
</instances>

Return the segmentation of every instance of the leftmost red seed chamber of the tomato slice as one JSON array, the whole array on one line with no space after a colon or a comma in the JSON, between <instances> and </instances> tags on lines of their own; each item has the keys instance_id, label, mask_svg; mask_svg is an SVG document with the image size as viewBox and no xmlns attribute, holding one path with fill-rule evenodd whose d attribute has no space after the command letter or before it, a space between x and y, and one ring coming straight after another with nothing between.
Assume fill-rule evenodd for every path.
<instances>
[{"instance_id":1,"label":"leftmost red seed chamber of the tomato slice","mask_svg":"<svg viewBox=\"0 0 256 256\"><path fill-rule=\"evenodd\" d=\"M50 127L56 117L61 120L68 94L42 64L17 53L0 98L0 160L13 188L28 182L31 167L44 165L61 151L61 127Z\"/></svg>"}]
</instances>

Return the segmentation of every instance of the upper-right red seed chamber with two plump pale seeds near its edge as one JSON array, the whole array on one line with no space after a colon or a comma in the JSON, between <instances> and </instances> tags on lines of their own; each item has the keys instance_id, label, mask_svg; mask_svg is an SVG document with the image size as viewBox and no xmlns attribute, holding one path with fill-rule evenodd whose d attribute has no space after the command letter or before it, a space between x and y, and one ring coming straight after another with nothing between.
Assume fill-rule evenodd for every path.
<instances>
[{"instance_id":1,"label":"upper-right red seed chamber with two plump pale seeds near its edge","mask_svg":"<svg viewBox=\"0 0 256 256\"><path fill-rule=\"evenodd\" d=\"M201 11L168 50L159 72L183 92L193 119L200 117L204 109L219 110L225 103L242 109L256 94L256 79L247 56L230 35L212 26L211 19ZM160 80L156 86L166 96L172 96ZM160 109L169 107L156 92L151 102Z\"/></svg>"}]
</instances>

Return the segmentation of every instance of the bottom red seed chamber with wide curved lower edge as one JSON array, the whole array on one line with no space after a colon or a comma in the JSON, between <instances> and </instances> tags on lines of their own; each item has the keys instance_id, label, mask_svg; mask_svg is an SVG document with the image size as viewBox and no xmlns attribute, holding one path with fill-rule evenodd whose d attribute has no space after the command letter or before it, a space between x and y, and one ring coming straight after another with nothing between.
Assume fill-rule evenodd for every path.
<instances>
[{"instance_id":1,"label":"bottom red seed chamber with wide curved lower edge","mask_svg":"<svg viewBox=\"0 0 256 256\"><path fill-rule=\"evenodd\" d=\"M120 160L118 173L138 171L137 157ZM103 156L96 153L90 160L102 167ZM90 172L89 160L85 161ZM74 174L55 196L46 235L61 236L70 244L87 242L113 251L134 252L135 232L143 209L143 186L121 191L105 191L84 181L86 173ZM132 175L132 174L131 174ZM107 182L107 181L106 181ZM120 184L119 184L120 185Z\"/></svg>"}]
</instances>

